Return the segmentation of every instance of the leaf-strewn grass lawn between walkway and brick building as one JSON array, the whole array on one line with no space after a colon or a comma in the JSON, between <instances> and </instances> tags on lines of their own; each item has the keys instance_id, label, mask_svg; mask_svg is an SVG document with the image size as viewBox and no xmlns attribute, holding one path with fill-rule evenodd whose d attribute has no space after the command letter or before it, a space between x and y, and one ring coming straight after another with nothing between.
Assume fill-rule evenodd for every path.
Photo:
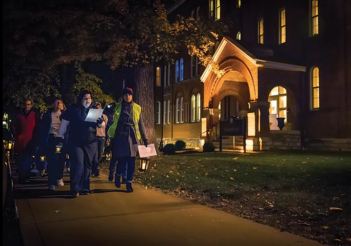
<instances>
[{"instance_id":1,"label":"leaf-strewn grass lawn between walkway and brick building","mask_svg":"<svg viewBox=\"0 0 351 246\"><path fill-rule=\"evenodd\" d=\"M350 153L161 155L135 182L324 244L351 243Z\"/></svg>"}]
</instances>

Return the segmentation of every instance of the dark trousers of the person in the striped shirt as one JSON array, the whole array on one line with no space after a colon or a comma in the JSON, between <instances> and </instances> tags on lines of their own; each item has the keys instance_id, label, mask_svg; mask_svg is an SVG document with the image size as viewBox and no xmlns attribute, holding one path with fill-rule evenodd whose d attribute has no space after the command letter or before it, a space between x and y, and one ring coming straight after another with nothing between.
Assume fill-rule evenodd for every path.
<instances>
[{"instance_id":1,"label":"dark trousers of the person in the striped shirt","mask_svg":"<svg viewBox=\"0 0 351 246\"><path fill-rule=\"evenodd\" d=\"M46 149L46 157L48 161L49 174L48 174L48 183L49 184L57 184L57 180L62 179L64 162L66 159L65 148L63 146L61 149L61 153L55 153L56 146L56 137L54 134L49 135L47 149Z\"/></svg>"}]
</instances>

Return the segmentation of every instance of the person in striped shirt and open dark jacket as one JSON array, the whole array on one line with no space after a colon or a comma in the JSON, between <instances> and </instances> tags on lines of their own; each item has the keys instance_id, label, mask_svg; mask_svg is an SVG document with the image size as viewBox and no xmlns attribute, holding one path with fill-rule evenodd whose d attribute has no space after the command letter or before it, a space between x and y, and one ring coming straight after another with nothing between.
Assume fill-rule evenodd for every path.
<instances>
[{"instance_id":1,"label":"person in striped shirt and open dark jacket","mask_svg":"<svg viewBox=\"0 0 351 246\"><path fill-rule=\"evenodd\" d=\"M62 99L56 97L54 99L53 108L49 109L41 119L41 130L40 130L40 149L47 158L48 168L50 173L48 174L48 184L50 190L55 190L55 185L63 186L63 169L65 164L65 154L56 154L56 137L59 133L59 125L62 119L62 113L64 112L64 106ZM65 153L66 145L63 145L61 153Z\"/></svg>"}]
</instances>

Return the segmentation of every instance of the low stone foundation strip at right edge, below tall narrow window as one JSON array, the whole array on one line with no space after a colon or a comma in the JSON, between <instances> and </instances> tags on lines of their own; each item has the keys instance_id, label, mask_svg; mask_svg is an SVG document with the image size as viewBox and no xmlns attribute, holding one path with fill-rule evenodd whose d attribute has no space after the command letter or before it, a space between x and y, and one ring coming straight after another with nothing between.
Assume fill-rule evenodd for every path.
<instances>
[{"instance_id":1,"label":"low stone foundation strip at right edge, below tall narrow window","mask_svg":"<svg viewBox=\"0 0 351 246\"><path fill-rule=\"evenodd\" d=\"M351 139L306 139L308 150L351 151Z\"/></svg>"}]
</instances>

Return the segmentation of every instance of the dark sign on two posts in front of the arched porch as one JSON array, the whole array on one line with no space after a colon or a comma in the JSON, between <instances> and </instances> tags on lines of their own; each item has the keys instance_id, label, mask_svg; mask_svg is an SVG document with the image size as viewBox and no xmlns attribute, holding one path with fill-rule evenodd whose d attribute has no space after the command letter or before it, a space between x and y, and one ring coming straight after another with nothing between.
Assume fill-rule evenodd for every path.
<instances>
[{"instance_id":1,"label":"dark sign on two posts in front of the arched porch","mask_svg":"<svg viewBox=\"0 0 351 246\"><path fill-rule=\"evenodd\" d=\"M219 123L219 151L222 151L222 136L243 136L244 153L246 153L246 119L235 119L231 115Z\"/></svg>"}]
</instances>

